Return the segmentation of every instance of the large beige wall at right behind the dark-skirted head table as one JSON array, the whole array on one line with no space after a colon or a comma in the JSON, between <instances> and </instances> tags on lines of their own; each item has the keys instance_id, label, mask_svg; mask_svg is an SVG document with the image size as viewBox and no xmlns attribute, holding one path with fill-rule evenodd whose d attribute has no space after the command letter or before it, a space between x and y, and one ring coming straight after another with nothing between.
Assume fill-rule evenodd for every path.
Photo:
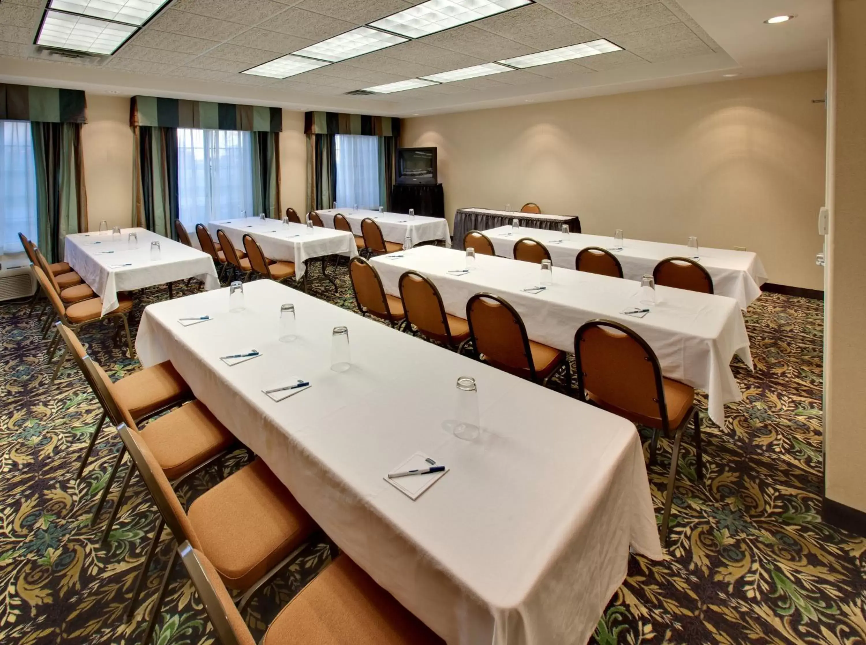
<instances>
[{"instance_id":1,"label":"large beige wall at right behind the dark-skirted head table","mask_svg":"<svg viewBox=\"0 0 866 645\"><path fill-rule=\"evenodd\" d=\"M770 281L823 288L824 71L405 119L462 206L580 216L587 233L757 251Z\"/></svg>"}]
</instances>

